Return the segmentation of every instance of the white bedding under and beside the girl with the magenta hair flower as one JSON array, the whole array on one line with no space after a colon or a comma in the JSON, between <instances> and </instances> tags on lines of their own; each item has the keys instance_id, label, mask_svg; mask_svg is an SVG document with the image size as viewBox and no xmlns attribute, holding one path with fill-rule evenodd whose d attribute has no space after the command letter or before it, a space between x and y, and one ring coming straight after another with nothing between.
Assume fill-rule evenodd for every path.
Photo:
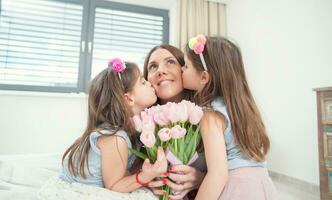
<instances>
[{"instance_id":1,"label":"white bedding under and beside the girl with the magenta hair flower","mask_svg":"<svg viewBox=\"0 0 332 200\"><path fill-rule=\"evenodd\" d=\"M118 193L78 183L68 184L57 178L60 169L59 154L0 156L0 199L158 199L147 189Z\"/></svg>"}]
</instances>

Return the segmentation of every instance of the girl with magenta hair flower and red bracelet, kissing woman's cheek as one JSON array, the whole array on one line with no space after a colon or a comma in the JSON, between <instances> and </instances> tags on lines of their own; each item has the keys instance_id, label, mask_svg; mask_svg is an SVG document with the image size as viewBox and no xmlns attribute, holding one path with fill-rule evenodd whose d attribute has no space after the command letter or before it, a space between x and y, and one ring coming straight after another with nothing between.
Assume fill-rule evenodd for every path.
<instances>
[{"instance_id":1,"label":"girl with magenta hair flower and red bracelet, kissing woman's cheek","mask_svg":"<svg viewBox=\"0 0 332 200\"><path fill-rule=\"evenodd\" d=\"M83 135L64 153L60 178L69 183L131 192L147 186L155 177L161 177L167 171L161 149L155 164L145 160L142 170L135 175L127 172L135 159L128 148L138 145L131 116L156 100L154 89L142 77L136 64L112 59L108 68L92 80L88 124Z\"/></svg>"}]
</instances>

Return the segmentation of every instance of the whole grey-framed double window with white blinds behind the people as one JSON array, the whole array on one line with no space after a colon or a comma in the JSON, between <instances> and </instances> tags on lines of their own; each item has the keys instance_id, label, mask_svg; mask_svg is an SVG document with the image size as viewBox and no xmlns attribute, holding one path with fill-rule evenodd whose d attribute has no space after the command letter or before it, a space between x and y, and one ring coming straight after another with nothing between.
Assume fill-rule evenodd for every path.
<instances>
[{"instance_id":1,"label":"whole grey-framed double window with white blinds behind the people","mask_svg":"<svg viewBox=\"0 0 332 200\"><path fill-rule=\"evenodd\" d=\"M85 91L119 56L168 43L168 11L100 0L0 0L0 89Z\"/></svg>"}]
</instances>

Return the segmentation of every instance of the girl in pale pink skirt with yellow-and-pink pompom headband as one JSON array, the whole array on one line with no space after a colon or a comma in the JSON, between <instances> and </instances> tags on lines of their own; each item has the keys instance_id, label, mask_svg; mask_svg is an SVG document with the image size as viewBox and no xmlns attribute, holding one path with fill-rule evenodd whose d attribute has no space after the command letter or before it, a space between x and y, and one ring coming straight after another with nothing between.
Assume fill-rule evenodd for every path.
<instances>
[{"instance_id":1,"label":"girl in pale pink skirt with yellow-and-pink pompom headband","mask_svg":"<svg viewBox=\"0 0 332 200\"><path fill-rule=\"evenodd\" d=\"M240 50L223 37L199 35L187 44L184 59L183 86L208 108L201 121L207 174L196 199L274 199L265 163L270 141Z\"/></svg>"}]
</instances>

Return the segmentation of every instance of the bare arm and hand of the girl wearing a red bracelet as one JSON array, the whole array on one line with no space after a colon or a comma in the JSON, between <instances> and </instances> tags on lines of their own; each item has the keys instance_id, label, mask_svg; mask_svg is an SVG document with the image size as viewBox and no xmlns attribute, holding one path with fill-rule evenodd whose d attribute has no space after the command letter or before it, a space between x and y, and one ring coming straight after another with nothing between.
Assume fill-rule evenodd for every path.
<instances>
[{"instance_id":1,"label":"bare arm and hand of the girl wearing a red bracelet","mask_svg":"<svg viewBox=\"0 0 332 200\"><path fill-rule=\"evenodd\" d=\"M126 175L128 146L118 136L104 136L97 141L101 151L102 176L105 188L116 192L132 192L140 187L136 175ZM154 165L145 161L138 175L142 183L147 183L167 171L167 160L163 151L158 151L158 160Z\"/></svg>"}]
</instances>

